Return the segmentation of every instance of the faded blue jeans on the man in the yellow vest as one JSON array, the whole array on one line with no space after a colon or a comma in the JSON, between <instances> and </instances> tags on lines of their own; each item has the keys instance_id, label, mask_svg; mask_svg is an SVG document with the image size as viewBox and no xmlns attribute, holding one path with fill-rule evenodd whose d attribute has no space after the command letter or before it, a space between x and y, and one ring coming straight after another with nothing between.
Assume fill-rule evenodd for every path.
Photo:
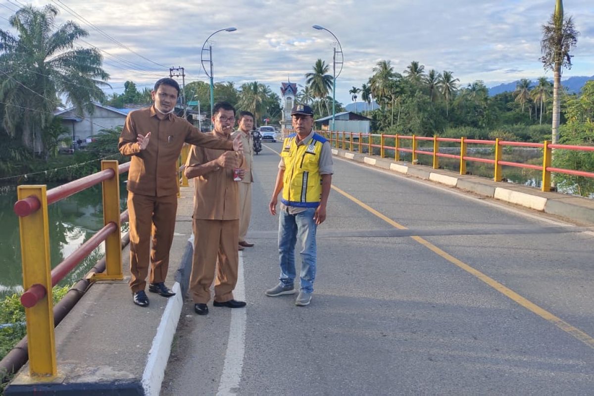
<instances>
[{"instance_id":1,"label":"faded blue jeans on the man in the yellow vest","mask_svg":"<svg viewBox=\"0 0 594 396\"><path fill-rule=\"evenodd\" d=\"M312 293L315 279L315 208L289 214L280 211L279 220L279 261L280 283L293 286L295 281L295 244L301 254L301 291Z\"/></svg>"}]
</instances>

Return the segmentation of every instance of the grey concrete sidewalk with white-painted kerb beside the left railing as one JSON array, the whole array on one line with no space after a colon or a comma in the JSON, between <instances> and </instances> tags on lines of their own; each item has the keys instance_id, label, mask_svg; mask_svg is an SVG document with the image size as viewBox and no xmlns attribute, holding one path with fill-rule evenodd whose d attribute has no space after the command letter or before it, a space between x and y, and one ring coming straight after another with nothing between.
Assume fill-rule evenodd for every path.
<instances>
[{"instance_id":1,"label":"grey concrete sidewalk with white-painted kerb beside the left railing","mask_svg":"<svg viewBox=\"0 0 594 396\"><path fill-rule=\"evenodd\" d=\"M148 293L150 306L132 303L129 248L122 252L124 280L95 283L56 327L58 377L39 384L20 370L6 395L158 395L182 308L174 280L192 233L192 188L182 188L166 284L169 299ZM174 284L175 283L175 284Z\"/></svg>"}]
</instances>

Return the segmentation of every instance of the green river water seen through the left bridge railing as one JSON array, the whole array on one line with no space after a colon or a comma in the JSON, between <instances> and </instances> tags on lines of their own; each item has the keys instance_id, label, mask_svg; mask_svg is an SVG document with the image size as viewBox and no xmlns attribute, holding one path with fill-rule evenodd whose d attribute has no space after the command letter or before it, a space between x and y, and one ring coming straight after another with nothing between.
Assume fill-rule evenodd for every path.
<instances>
[{"instance_id":1,"label":"green river water seen through the left bridge railing","mask_svg":"<svg viewBox=\"0 0 594 396\"><path fill-rule=\"evenodd\" d=\"M50 189L52 186L48 186ZM125 183L120 186L120 205L126 206ZM23 291L21 243L18 217L12 211L17 201L14 186L5 186L0 192L0 297ZM62 201L49 205L49 240L52 268L82 245L103 227L101 186L94 186ZM127 223L122 232L127 231ZM103 244L78 265L59 284L72 284L79 280L103 256Z\"/></svg>"}]
</instances>

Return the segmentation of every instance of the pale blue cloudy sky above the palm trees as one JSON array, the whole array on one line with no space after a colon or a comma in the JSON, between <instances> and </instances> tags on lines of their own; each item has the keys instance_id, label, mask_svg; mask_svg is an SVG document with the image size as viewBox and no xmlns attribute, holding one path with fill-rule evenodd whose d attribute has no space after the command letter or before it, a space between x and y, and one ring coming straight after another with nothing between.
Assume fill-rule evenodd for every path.
<instances>
[{"instance_id":1,"label":"pale blue cloudy sky above the palm trees","mask_svg":"<svg viewBox=\"0 0 594 396\"><path fill-rule=\"evenodd\" d=\"M0 28L24 0L0 0ZM563 78L594 75L594 5L592 0L565 0L580 36L571 70ZM334 38L340 40L344 68L336 99L351 102L350 87L361 87L378 61L388 59L402 72L411 61L425 70L453 71L466 85L483 80L489 87L519 78L538 78L542 68L541 26L555 0L33 0L53 4L58 22L72 20L86 28L86 41L105 52L105 69L113 91L132 80L150 86L183 66L189 81L207 81L201 68L204 41L212 37L214 81L236 86L257 80L280 94L280 83L305 84L305 73L318 58L332 64ZM91 26L92 24L93 26ZM103 33L96 30L99 28ZM122 45L118 45L108 37ZM86 43L81 43L88 46ZM108 54L109 53L109 54ZM331 68L330 68L331 74ZM110 92L108 90L108 92Z\"/></svg>"}]
</instances>

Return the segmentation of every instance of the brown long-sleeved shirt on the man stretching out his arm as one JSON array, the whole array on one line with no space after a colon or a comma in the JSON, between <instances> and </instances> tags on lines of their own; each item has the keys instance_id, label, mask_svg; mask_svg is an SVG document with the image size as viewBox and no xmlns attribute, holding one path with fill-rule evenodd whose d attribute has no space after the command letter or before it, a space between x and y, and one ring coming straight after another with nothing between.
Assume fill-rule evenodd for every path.
<instances>
[{"instance_id":1,"label":"brown long-sleeved shirt on the man stretching out his arm","mask_svg":"<svg viewBox=\"0 0 594 396\"><path fill-rule=\"evenodd\" d=\"M141 151L136 138L148 132L151 132L149 145ZM151 197L177 194L178 157L184 142L233 150L232 141L204 134L172 113L160 120L154 106L129 113L118 143L122 155L132 156L128 191Z\"/></svg>"}]
</instances>

